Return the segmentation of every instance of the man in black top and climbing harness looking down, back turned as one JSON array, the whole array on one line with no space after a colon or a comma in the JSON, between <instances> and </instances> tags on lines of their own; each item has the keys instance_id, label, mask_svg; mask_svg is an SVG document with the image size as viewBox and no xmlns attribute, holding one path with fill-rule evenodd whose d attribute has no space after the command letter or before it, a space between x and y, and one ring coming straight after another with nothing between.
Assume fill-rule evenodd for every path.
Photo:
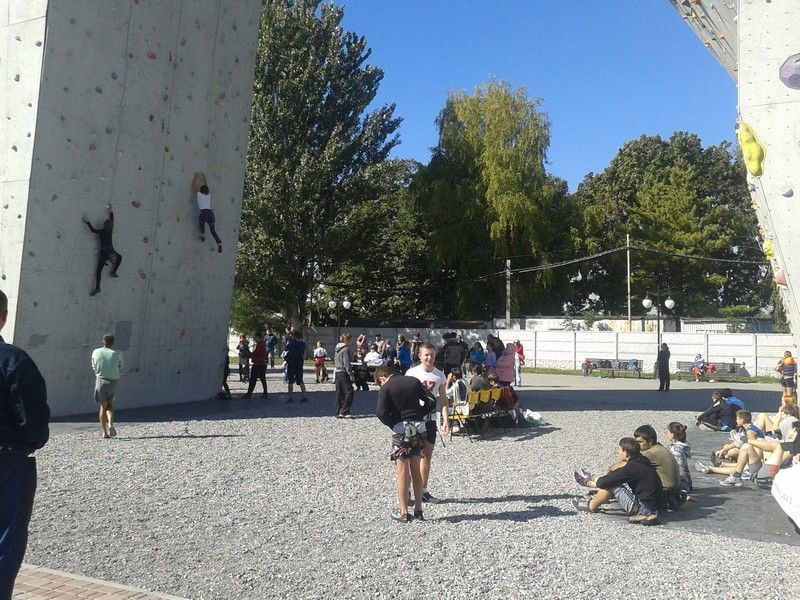
<instances>
[{"instance_id":1,"label":"man in black top and climbing harness looking down, back turned","mask_svg":"<svg viewBox=\"0 0 800 600\"><path fill-rule=\"evenodd\" d=\"M436 407L436 400L422 383L397 375L388 365L375 369L375 383L380 386L375 414L392 430L391 460L397 473L397 500L400 509L392 513L396 521L408 523L422 516L422 470L420 460L425 449L425 416ZM414 516L408 514L408 486L414 486Z\"/></svg>"}]
</instances>

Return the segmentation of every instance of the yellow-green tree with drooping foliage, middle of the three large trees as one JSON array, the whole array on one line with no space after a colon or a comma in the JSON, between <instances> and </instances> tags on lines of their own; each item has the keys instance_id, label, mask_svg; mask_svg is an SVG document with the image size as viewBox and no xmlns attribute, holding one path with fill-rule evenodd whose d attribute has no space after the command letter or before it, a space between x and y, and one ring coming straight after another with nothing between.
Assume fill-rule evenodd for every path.
<instances>
[{"instance_id":1,"label":"yellow-green tree with drooping foliage, middle of the three large trees","mask_svg":"<svg viewBox=\"0 0 800 600\"><path fill-rule=\"evenodd\" d=\"M515 267L537 265L565 249L566 185L545 171L550 126L540 106L524 89L492 81L471 95L451 94L439 114L438 144L412 190L450 291L443 316L497 314L505 284L485 275L500 271L506 257L514 257ZM554 281L548 271L518 279L515 309L562 295L554 293ZM555 302L559 312L561 302Z\"/></svg>"}]
</instances>

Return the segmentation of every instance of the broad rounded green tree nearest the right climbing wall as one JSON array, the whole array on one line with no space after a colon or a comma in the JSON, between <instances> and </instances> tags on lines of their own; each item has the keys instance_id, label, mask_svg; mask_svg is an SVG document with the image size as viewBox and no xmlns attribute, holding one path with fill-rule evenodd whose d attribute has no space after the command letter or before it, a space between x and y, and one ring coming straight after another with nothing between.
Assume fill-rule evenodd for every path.
<instances>
[{"instance_id":1,"label":"broad rounded green tree nearest the right climbing wall","mask_svg":"<svg viewBox=\"0 0 800 600\"><path fill-rule=\"evenodd\" d=\"M752 314L769 302L762 265L672 256L763 260L745 170L727 142L703 148L689 133L642 136L625 144L603 173L589 174L574 200L584 252L624 246L626 234L634 246L661 252L632 252L635 311L647 290L670 292L684 315L715 315L730 306ZM626 310L624 253L579 272L576 308Z\"/></svg>"}]
</instances>

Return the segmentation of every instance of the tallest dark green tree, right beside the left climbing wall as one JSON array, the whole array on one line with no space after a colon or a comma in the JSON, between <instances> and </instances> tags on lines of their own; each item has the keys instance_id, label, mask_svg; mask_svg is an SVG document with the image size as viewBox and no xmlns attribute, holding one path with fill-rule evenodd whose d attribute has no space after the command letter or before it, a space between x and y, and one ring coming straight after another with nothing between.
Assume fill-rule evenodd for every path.
<instances>
[{"instance_id":1,"label":"tallest dark green tree, right beside the left climbing wall","mask_svg":"<svg viewBox=\"0 0 800 600\"><path fill-rule=\"evenodd\" d=\"M350 222L384 192L398 142L393 105L367 112L383 71L342 16L315 0L262 11L236 285L289 323L355 245Z\"/></svg>"}]
</instances>

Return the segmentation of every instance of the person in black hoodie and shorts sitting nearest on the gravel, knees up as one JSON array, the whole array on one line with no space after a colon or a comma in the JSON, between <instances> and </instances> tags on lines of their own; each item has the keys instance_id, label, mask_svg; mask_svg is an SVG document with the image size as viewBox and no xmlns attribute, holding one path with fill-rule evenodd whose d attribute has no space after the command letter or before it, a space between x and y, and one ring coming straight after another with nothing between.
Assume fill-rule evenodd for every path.
<instances>
[{"instance_id":1,"label":"person in black hoodie and shorts sitting nearest on the gravel, knees up","mask_svg":"<svg viewBox=\"0 0 800 600\"><path fill-rule=\"evenodd\" d=\"M578 483L596 488L597 492L589 499L573 499L573 506L596 513L603 504L616 499L631 523L658 525L659 514L667 504L658 472L647 457L642 456L634 438L622 438L617 453L620 462L613 465L608 474L597 479L575 474Z\"/></svg>"}]
</instances>

